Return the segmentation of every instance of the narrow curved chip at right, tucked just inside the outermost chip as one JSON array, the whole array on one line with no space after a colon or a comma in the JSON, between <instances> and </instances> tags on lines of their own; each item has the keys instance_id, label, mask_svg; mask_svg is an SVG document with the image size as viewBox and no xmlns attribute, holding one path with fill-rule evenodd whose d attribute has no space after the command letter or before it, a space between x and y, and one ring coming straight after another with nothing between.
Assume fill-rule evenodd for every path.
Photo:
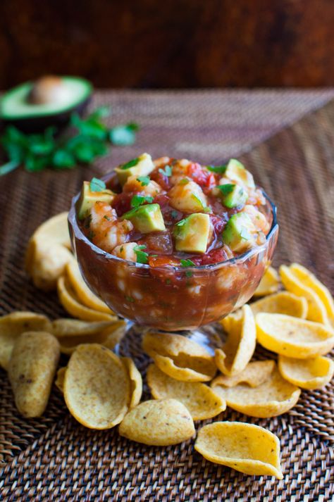
<instances>
[{"instance_id":1,"label":"narrow curved chip at right, tucked just inside the outermost chip","mask_svg":"<svg viewBox=\"0 0 334 502\"><path fill-rule=\"evenodd\" d=\"M304 298L307 299L307 319L314 322L329 324L326 308L314 289L311 289L304 284L304 282L299 280L286 265L280 266L280 278L287 291L291 291L291 293L297 296L304 296Z\"/></svg>"}]
</instances>

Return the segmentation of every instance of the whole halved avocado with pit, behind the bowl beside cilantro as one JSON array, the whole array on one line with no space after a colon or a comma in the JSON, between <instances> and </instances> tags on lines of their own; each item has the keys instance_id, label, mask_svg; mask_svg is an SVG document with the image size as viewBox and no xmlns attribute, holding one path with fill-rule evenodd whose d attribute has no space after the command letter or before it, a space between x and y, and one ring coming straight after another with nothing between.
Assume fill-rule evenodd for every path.
<instances>
[{"instance_id":1,"label":"whole halved avocado with pit, behind the bowl beside cilantro","mask_svg":"<svg viewBox=\"0 0 334 502\"><path fill-rule=\"evenodd\" d=\"M25 132L39 132L68 123L73 111L82 113L92 96L92 84L80 77L42 77L25 82L0 100L0 120Z\"/></svg>"}]
</instances>

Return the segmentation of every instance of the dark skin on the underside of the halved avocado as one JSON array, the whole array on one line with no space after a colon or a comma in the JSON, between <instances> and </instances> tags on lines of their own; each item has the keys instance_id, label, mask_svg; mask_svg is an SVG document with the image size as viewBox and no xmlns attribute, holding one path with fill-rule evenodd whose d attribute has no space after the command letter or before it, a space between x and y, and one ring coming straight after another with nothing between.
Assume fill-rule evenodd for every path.
<instances>
[{"instance_id":1,"label":"dark skin on the underside of the halved avocado","mask_svg":"<svg viewBox=\"0 0 334 502\"><path fill-rule=\"evenodd\" d=\"M91 100L92 96L88 96L77 106L68 108L66 111L60 113L54 113L53 115L40 115L36 117L1 120L1 128L7 127L8 125L14 125L20 131L35 133L43 132L47 129L47 127L53 126L56 127L58 132L61 132L61 130L68 125L70 115L72 115L73 112L76 112L82 116Z\"/></svg>"}]
</instances>

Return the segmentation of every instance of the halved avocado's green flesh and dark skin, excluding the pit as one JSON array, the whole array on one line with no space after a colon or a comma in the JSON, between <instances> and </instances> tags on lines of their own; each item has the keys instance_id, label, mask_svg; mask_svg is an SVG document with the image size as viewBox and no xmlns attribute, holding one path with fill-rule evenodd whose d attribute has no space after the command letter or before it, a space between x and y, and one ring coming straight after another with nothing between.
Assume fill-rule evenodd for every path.
<instances>
[{"instance_id":1,"label":"halved avocado's green flesh and dark skin, excluding the pit","mask_svg":"<svg viewBox=\"0 0 334 502\"><path fill-rule=\"evenodd\" d=\"M92 95L92 84L79 77L61 77L66 96L61 102L35 104L30 102L34 82L25 82L4 94L0 100L0 119L26 132L39 132L46 127L68 123L73 111L83 113Z\"/></svg>"}]
</instances>

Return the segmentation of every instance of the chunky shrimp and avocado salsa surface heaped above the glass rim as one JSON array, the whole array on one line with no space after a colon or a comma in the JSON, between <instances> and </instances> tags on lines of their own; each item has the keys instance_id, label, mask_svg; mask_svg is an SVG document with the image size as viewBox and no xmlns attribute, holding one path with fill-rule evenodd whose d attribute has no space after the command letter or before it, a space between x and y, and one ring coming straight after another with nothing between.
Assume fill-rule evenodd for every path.
<instances>
[{"instance_id":1,"label":"chunky shrimp and avocado salsa surface heaped above the glass rim","mask_svg":"<svg viewBox=\"0 0 334 502\"><path fill-rule=\"evenodd\" d=\"M104 184L85 182L82 231L104 251L137 263L210 265L263 244L271 222L239 161L204 166L144 153Z\"/></svg>"}]
</instances>

